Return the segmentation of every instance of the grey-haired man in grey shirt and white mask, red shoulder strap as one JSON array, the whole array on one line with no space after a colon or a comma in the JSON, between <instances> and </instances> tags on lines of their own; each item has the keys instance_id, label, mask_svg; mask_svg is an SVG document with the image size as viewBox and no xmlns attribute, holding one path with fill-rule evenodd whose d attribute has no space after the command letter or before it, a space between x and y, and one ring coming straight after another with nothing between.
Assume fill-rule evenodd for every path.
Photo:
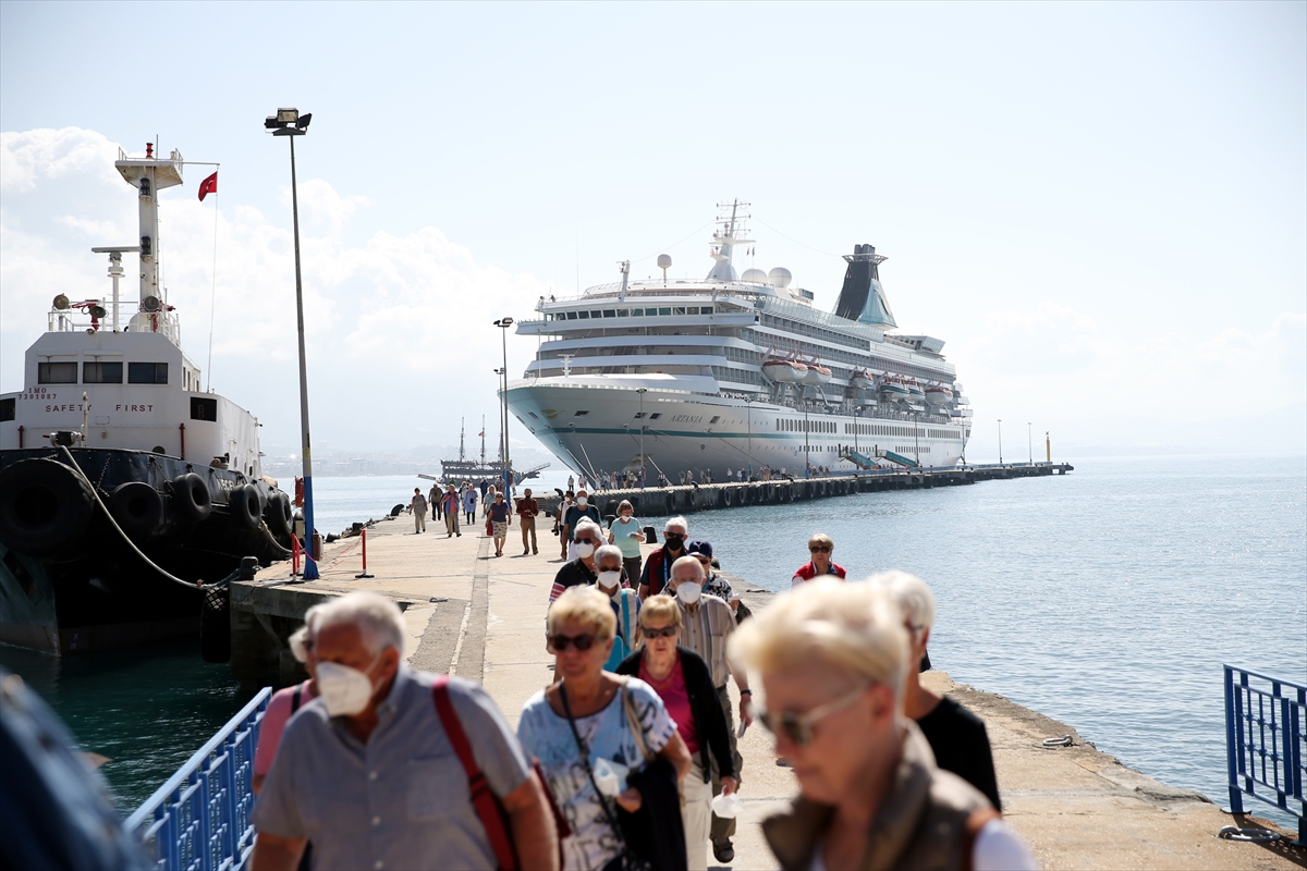
<instances>
[{"instance_id":1,"label":"grey-haired man in grey shirt and white mask, red shoulder strap","mask_svg":"<svg viewBox=\"0 0 1307 871\"><path fill-rule=\"evenodd\" d=\"M255 871L293 871L307 841L320 868L494 868L435 675L401 661L399 607L349 593L320 606L312 633L320 696L286 726L255 806ZM461 678L448 699L521 867L557 868L544 787L494 701Z\"/></svg>"}]
</instances>

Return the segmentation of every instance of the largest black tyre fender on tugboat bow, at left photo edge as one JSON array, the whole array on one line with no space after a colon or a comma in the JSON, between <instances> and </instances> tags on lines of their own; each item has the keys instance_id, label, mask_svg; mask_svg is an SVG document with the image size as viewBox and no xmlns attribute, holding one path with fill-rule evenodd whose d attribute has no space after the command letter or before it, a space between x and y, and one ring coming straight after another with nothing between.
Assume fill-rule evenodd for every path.
<instances>
[{"instance_id":1,"label":"largest black tyre fender on tugboat bow, at left photo edge","mask_svg":"<svg viewBox=\"0 0 1307 871\"><path fill-rule=\"evenodd\" d=\"M86 533L94 499L58 460L20 460L0 470L0 542L20 554L58 550Z\"/></svg>"}]
</instances>

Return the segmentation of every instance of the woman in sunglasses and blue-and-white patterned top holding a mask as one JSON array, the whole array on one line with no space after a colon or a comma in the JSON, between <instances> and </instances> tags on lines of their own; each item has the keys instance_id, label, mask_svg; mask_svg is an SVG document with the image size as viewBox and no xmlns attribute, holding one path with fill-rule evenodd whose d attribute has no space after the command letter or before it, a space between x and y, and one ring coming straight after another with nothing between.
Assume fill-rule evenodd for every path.
<instances>
[{"instance_id":1,"label":"woman in sunglasses and blue-and-white patterned top holding a mask","mask_svg":"<svg viewBox=\"0 0 1307 871\"><path fill-rule=\"evenodd\" d=\"M622 867L626 847L609 798L626 811L640 808L643 797L626 778L644 768L646 748L670 761L681 778L691 765L657 693L642 680L604 671L616 623L599 590L575 588L558 597L548 636L557 683L527 701L518 726L571 827L562 845L563 868L570 870Z\"/></svg>"}]
</instances>

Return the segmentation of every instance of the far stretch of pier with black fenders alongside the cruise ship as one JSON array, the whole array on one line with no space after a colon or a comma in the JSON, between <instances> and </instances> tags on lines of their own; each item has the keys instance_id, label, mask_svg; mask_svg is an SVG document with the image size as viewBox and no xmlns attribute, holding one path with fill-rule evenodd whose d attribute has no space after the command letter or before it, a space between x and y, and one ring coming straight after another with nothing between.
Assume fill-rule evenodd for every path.
<instances>
[{"instance_id":1,"label":"far stretch of pier with black fenders alongside the cruise ship","mask_svg":"<svg viewBox=\"0 0 1307 871\"><path fill-rule=\"evenodd\" d=\"M630 500L638 517L665 517L668 515L693 515L701 511L721 508L746 508L750 505L784 505L792 501L848 496L860 492L881 492L884 490L924 490L929 487L954 487L974 484L979 481L1008 481L1012 478L1043 478L1064 475L1074 466L1065 462L1001 464L983 466L941 466L925 469L894 469L877 471L857 471L831 475L830 478L795 478L723 482L712 484L687 484L674 487L644 487L631 490L591 490L591 503L599 505L603 516L617 515L617 505L623 499ZM527 482L524 486L531 486ZM558 496L553 492L536 492L541 511L553 513L558 508Z\"/></svg>"}]
</instances>

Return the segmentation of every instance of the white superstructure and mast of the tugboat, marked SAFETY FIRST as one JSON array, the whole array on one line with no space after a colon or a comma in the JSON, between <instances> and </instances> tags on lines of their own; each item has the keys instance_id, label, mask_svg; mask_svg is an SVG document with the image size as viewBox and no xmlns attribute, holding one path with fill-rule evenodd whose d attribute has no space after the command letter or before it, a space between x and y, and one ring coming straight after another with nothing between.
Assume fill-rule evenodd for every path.
<instances>
[{"instance_id":1,"label":"white superstructure and mast of the tugboat, marked SAFETY FIRST","mask_svg":"<svg viewBox=\"0 0 1307 871\"><path fill-rule=\"evenodd\" d=\"M77 447L152 451L259 478L259 422L203 389L158 277L158 193L182 184L182 154L119 150L114 166L137 191L139 244L94 248L108 255L110 296L55 296L46 332L27 349L22 390L0 396L0 449L39 448L64 431ZM124 253L140 266L135 300L119 296Z\"/></svg>"}]
</instances>

